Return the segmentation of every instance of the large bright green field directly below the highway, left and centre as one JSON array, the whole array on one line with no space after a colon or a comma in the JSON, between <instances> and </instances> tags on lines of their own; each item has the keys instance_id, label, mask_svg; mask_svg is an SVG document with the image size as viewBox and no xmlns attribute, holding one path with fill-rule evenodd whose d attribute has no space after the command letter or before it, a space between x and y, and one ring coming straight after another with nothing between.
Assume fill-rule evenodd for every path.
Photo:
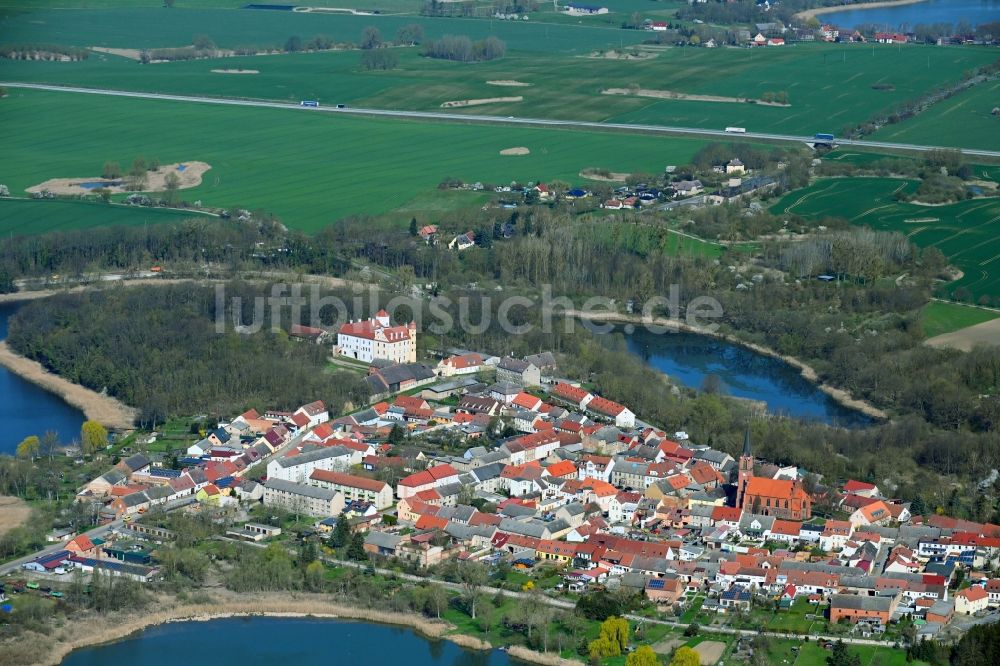
<instances>
[{"instance_id":1,"label":"large bright green field directly below the highway, left and centre","mask_svg":"<svg viewBox=\"0 0 1000 666\"><path fill-rule=\"evenodd\" d=\"M125 166L139 155L161 164L201 160L211 169L201 185L180 191L185 200L263 208L306 231L347 215L429 207L426 197L450 177L582 183L579 173L585 168L660 172L666 164L689 161L704 145L681 137L436 124L298 108L111 101L39 91L17 91L0 100L0 107L0 183L15 196L50 178L98 176L106 160ZM531 153L499 154L513 146ZM481 201L479 196L468 201ZM466 201L455 199L460 200L456 204Z\"/></svg>"}]
</instances>

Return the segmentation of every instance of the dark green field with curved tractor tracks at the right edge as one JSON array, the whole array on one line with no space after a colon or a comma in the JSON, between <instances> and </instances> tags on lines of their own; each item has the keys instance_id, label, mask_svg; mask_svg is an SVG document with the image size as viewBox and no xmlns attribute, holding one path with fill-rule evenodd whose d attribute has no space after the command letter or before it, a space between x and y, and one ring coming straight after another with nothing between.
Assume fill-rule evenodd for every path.
<instances>
[{"instance_id":1,"label":"dark green field with curved tractor tracks at the right edge","mask_svg":"<svg viewBox=\"0 0 1000 666\"><path fill-rule=\"evenodd\" d=\"M964 288L972 298L1000 299L1000 198L971 199L944 206L893 201L917 183L891 178L820 179L786 194L771 208L811 220L839 217L879 231L898 231L920 247L934 246L960 268L949 296Z\"/></svg>"}]
</instances>

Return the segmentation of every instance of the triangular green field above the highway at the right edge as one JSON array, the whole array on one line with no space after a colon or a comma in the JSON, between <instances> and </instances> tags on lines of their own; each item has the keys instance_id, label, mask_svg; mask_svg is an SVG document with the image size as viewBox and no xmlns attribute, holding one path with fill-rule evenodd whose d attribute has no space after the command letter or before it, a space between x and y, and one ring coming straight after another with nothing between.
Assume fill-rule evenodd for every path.
<instances>
[{"instance_id":1,"label":"triangular green field above the highway at the right edge","mask_svg":"<svg viewBox=\"0 0 1000 666\"><path fill-rule=\"evenodd\" d=\"M1000 150L1000 81L988 81L938 102L919 116L872 135L879 141Z\"/></svg>"}]
</instances>

